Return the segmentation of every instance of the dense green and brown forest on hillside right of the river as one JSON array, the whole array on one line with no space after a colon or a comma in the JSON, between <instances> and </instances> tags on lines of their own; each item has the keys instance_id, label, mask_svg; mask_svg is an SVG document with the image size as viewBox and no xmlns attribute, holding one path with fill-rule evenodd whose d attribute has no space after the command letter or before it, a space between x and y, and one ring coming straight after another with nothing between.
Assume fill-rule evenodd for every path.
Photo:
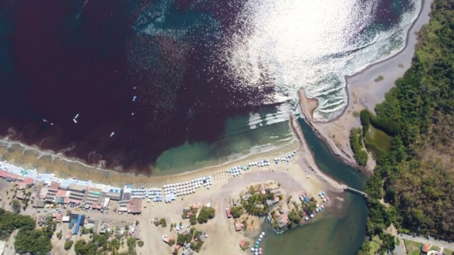
<instances>
[{"instance_id":1,"label":"dense green and brown forest on hillside right of the river","mask_svg":"<svg viewBox=\"0 0 454 255\"><path fill-rule=\"evenodd\" d=\"M383 229L454 241L454 1L434 0L431 21L419 32L410 69L395 81L369 125L392 136L367 181L367 235L392 249ZM382 200L383 199L383 200ZM367 253L368 242L358 254Z\"/></svg>"}]
</instances>

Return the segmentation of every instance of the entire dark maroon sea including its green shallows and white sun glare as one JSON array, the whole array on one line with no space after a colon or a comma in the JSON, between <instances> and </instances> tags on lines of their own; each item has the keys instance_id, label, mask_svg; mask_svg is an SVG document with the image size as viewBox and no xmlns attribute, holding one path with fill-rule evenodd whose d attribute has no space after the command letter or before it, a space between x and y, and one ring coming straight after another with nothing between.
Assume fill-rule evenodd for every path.
<instances>
[{"instance_id":1,"label":"entire dark maroon sea including its green shallows and white sun glare","mask_svg":"<svg viewBox=\"0 0 454 255\"><path fill-rule=\"evenodd\" d=\"M145 174L280 147L297 90L319 98L315 118L341 113L343 76L401 49L420 6L2 2L0 135Z\"/></svg>"}]
</instances>

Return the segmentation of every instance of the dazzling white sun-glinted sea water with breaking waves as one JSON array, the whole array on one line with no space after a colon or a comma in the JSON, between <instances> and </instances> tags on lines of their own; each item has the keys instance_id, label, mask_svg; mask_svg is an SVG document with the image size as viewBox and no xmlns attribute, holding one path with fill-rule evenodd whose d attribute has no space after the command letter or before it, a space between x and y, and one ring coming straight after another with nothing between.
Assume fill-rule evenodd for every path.
<instances>
[{"instance_id":1,"label":"dazzling white sun-glinted sea water with breaking waves","mask_svg":"<svg viewBox=\"0 0 454 255\"><path fill-rule=\"evenodd\" d=\"M314 119L336 118L348 103L343 77L402 50L421 2L409 1L389 28L374 26L377 8L378 1L250 0L236 17L248 26L223 47L228 75L243 89L267 77L275 91L269 103L289 101L294 113L303 88L319 100Z\"/></svg>"}]
</instances>

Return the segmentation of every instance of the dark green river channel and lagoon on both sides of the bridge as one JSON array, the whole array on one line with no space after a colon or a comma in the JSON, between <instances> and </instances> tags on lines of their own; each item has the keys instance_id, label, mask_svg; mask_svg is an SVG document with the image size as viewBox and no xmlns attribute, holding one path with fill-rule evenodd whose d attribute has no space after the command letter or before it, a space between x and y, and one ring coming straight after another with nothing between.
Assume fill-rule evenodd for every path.
<instances>
[{"instance_id":1,"label":"dark green river channel and lagoon on both sides of the bridge","mask_svg":"<svg viewBox=\"0 0 454 255\"><path fill-rule=\"evenodd\" d=\"M365 185L367 176L334 157L304 120L299 119L299 125L322 171L355 188ZM356 254L365 237L367 208L361 196L345 193L343 200L334 208L324 210L321 219L283 234L274 234L265 223L263 254Z\"/></svg>"}]
</instances>

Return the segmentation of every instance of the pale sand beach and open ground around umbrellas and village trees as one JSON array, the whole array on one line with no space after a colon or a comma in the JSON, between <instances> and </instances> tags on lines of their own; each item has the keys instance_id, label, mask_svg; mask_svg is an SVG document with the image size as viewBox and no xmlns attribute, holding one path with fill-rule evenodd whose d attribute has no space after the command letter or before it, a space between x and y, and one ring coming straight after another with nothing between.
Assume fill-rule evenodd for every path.
<instances>
[{"instance_id":1,"label":"pale sand beach and open ground around umbrellas and village trees","mask_svg":"<svg viewBox=\"0 0 454 255\"><path fill-rule=\"evenodd\" d=\"M80 179L92 179L92 181L103 181L105 183L120 185L123 183L132 183L133 186L145 185L149 187L162 187L165 183L172 183L178 181L187 181L189 179L198 178L201 176L213 176L213 184L210 189L201 188L196 193L184 196L184 200L179 198L172 203L155 203L155 205L148 204L148 208L144 208L141 215L102 215L102 218L112 218L116 220L138 220L142 229L142 238L145 239L145 245L138 248L139 253L146 254L147 251L156 251L156 254L170 254L170 246L162 242L161 237L163 234L177 237L175 230L170 232L170 227L162 228L155 227L151 220L155 217L165 217L167 222L179 223L183 222L188 225L188 220L182 220L182 208L191 205L192 203L206 203L211 202L211 205L216 209L216 217L208 224L196 225L196 229L206 232L209 238L206 239L204 247L199 254L243 254L244 251L240 249L239 242L241 239L250 238L253 242L260 230L260 222L262 219L250 217L254 220L254 227L248 232L236 232L233 227L233 220L228 219L225 215L225 208L229 208L231 196L239 196L239 193L246 191L248 187L258 183L280 183L281 189L284 192L284 200L290 196L297 199L303 193L311 193L316 196L317 193L325 191L331 197L331 200L325 203L326 208L331 204L342 203L343 186L341 183L334 181L325 174L323 174L316 166L311 151L304 141L297 121L292 118L290 121L292 130L294 130L295 141L292 148L287 148L287 152L272 151L265 154L250 156L246 159L240 159L235 162L228 162L221 166L212 166L206 169L191 171L185 174L174 176L157 176L145 177L134 176L133 174L121 174L114 171L104 171L92 168L88 171L87 168L82 169L81 164L76 162L68 162L64 159L43 159L43 157L36 157L33 150L18 149L13 147L0 147L0 154L4 159L10 163L16 164L22 162L24 166L37 168L38 171L45 170L53 172L57 176L77 176ZM283 157L289 152L296 151L297 156L292 157L290 162L281 162L279 164L272 163L271 166L252 166L250 170L243 172L239 177L234 177L230 173L226 173L226 169L238 165L248 165L248 162L258 161L260 159L273 159L275 157ZM49 156L45 156L49 157ZM48 160L48 162L46 162ZM48 166L48 169L45 167ZM310 176L310 177L308 177ZM316 196L318 200L318 196ZM336 199L336 198L339 199ZM334 198L334 199L333 199ZM321 203L321 200L319 201ZM329 210L329 209L328 209ZM95 212L92 217L98 213ZM323 216L317 216L314 220L321 219ZM311 220L313 221L313 220ZM307 223L304 223L307 224ZM61 247L60 247L61 248ZM55 247L55 249L60 249ZM228 251L226 253L225 251Z\"/></svg>"}]
</instances>

